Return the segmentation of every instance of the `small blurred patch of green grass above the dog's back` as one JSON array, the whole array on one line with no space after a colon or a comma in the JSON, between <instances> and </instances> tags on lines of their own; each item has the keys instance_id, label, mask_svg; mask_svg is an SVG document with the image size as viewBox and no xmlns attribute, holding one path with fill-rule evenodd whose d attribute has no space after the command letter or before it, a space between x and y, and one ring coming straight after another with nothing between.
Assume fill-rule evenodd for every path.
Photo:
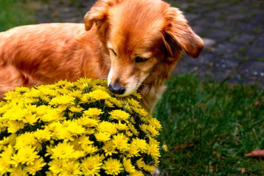
<instances>
[{"instance_id":1,"label":"small blurred patch of green grass above the dog's back","mask_svg":"<svg viewBox=\"0 0 264 176\"><path fill-rule=\"evenodd\" d=\"M27 5L25 0L0 0L0 31L35 23L34 11Z\"/></svg>"}]
</instances>

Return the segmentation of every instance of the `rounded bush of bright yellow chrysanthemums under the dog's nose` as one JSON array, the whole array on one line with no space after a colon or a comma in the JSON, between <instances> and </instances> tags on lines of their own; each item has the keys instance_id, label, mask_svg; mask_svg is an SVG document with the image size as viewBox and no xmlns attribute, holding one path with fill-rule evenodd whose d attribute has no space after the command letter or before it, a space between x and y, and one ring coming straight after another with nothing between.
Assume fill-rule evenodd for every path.
<instances>
[{"instance_id":1,"label":"rounded bush of bright yellow chrysanthemums under the dog's nose","mask_svg":"<svg viewBox=\"0 0 264 176\"><path fill-rule=\"evenodd\" d=\"M166 145L134 93L104 80L16 88L0 102L0 175L149 175Z\"/></svg>"}]
</instances>

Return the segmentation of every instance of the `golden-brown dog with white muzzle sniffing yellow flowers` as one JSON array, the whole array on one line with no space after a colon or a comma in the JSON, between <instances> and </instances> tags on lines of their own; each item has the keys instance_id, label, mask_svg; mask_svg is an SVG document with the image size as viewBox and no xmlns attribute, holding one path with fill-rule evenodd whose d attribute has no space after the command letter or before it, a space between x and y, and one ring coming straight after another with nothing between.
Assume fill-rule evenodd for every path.
<instances>
[{"instance_id":1,"label":"golden-brown dog with white muzzle sniffing yellow flowers","mask_svg":"<svg viewBox=\"0 0 264 176\"><path fill-rule=\"evenodd\" d=\"M164 1L98 0L84 25L34 24L0 33L0 96L60 79L108 79L115 94L138 90L151 112L183 51L197 58L203 47L183 13Z\"/></svg>"}]
</instances>

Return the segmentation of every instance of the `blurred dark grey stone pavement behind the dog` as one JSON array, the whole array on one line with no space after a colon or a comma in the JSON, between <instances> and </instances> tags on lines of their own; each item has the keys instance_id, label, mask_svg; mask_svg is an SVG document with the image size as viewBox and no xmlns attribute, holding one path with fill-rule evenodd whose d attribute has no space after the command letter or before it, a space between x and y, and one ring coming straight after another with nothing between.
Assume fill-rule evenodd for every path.
<instances>
[{"instance_id":1,"label":"blurred dark grey stone pavement behind the dog","mask_svg":"<svg viewBox=\"0 0 264 176\"><path fill-rule=\"evenodd\" d=\"M38 22L83 22L95 0L47 0ZM174 74L195 73L228 83L264 88L263 0L167 0L182 10L206 47L197 59L186 54Z\"/></svg>"}]
</instances>

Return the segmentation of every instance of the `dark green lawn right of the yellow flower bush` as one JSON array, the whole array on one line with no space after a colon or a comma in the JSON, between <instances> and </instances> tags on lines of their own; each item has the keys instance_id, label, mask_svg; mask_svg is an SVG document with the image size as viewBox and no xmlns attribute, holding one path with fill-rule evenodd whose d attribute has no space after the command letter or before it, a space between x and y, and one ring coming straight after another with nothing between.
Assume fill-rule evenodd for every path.
<instances>
[{"instance_id":1,"label":"dark green lawn right of the yellow flower bush","mask_svg":"<svg viewBox=\"0 0 264 176\"><path fill-rule=\"evenodd\" d=\"M185 75L167 82L154 114L163 123L163 175L264 175L264 90Z\"/></svg>"}]
</instances>

